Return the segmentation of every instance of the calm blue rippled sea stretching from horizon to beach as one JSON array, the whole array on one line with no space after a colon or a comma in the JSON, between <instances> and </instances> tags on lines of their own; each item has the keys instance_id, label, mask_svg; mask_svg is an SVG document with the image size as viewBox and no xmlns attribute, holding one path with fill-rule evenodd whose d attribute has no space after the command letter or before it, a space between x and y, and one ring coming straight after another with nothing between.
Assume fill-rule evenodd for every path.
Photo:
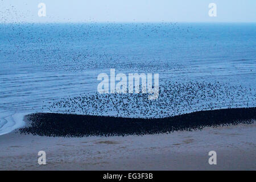
<instances>
[{"instance_id":1,"label":"calm blue rippled sea stretching from horizon to beach","mask_svg":"<svg viewBox=\"0 0 256 182\"><path fill-rule=\"evenodd\" d=\"M0 65L0 134L22 126L22 113L96 93L110 68L159 73L160 88L217 82L236 97L213 109L255 106L256 23L0 24Z\"/></svg>"}]
</instances>

